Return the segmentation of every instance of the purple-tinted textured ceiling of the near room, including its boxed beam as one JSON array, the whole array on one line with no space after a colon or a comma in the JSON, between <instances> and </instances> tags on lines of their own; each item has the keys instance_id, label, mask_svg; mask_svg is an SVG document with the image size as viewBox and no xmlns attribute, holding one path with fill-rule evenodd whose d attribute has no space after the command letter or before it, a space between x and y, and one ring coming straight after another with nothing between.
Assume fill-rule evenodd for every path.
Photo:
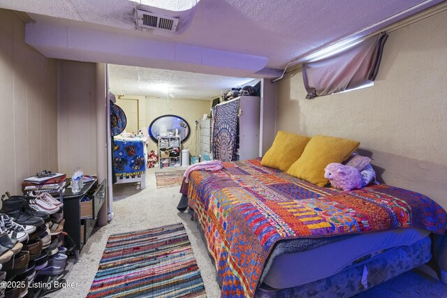
<instances>
[{"instance_id":1,"label":"purple-tinted textured ceiling of the near room, including its boxed beam","mask_svg":"<svg viewBox=\"0 0 447 298\"><path fill-rule=\"evenodd\" d=\"M260 77L348 36L442 0L0 0L29 13L26 42L46 57ZM136 27L136 9L178 17L177 31ZM175 77L172 77L175 82ZM205 83L204 83L205 84ZM121 93L121 92L118 92Z\"/></svg>"}]
</instances>

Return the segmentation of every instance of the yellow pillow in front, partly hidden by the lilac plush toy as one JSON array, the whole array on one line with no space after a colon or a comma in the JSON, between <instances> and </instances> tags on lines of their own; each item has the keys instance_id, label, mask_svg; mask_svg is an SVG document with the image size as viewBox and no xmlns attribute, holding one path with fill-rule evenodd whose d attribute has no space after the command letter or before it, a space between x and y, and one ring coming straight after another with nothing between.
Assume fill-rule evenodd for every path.
<instances>
[{"instance_id":1,"label":"yellow pillow in front, partly hidden by the lilac plush toy","mask_svg":"<svg viewBox=\"0 0 447 298\"><path fill-rule=\"evenodd\" d=\"M298 161L288 169L287 174L309 181L318 186L328 184L324 177L324 168L329 163L342 163L356 151L360 142L315 135L307 143Z\"/></svg>"}]
</instances>

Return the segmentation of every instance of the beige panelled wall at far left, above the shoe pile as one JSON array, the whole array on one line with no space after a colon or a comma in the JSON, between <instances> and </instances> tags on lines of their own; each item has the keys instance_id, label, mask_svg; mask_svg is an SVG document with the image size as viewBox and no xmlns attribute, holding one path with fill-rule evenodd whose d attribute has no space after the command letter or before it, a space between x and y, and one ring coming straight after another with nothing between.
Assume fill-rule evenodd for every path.
<instances>
[{"instance_id":1,"label":"beige panelled wall at far left, above the shoe pile","mask_svg":"<svg viewBox=\"0 0 447 298\"><path fill-rule=\"evenodd\" d=\"M24 22L0 9L0 192L57 171L57 65L24 43Z\"/></svg>"}]
</instances>

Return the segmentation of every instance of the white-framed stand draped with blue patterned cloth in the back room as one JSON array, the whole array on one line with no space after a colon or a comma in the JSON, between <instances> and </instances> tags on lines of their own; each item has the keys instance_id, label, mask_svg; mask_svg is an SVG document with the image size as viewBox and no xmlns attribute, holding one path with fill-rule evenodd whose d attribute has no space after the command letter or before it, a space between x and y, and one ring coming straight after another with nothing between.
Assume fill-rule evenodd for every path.
<instances>
[{"instance_id":1,"label":"white-framed stand draped with blue patterned cloth in the back room","mask_svg":"<svg viewBox=\"0 0 447 298\"><path fill-rule=\"evenodd\" d=\"M146 140L140 137L115 137L113 141L113 167L117 182L140 182L146 188Z\"/></svg>"}]
</instances>

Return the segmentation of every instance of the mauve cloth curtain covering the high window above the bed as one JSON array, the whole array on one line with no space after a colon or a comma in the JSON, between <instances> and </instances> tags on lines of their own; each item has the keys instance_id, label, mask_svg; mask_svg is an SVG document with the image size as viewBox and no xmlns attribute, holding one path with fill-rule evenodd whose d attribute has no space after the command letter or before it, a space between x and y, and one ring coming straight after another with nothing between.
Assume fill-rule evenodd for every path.
<instances>
[{"instance_id":1,"label":"mauve cloth curtain covering the high window above the bed","mask_svg":"<svg viewBox=\"0 0 447 298\"><path fill-rule=\"evenodd\" d=\"M302 64L307 99L373 82L388 34L380 33L330 57Z\"/></svg>"}]
</instances>

